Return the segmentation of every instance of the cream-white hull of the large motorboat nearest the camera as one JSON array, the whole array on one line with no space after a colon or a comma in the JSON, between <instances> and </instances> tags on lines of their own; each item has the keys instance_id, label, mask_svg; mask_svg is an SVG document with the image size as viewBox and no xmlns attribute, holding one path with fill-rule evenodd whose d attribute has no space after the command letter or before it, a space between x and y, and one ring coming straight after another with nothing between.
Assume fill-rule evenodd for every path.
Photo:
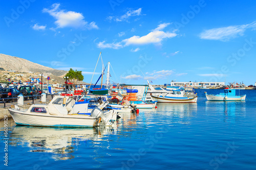
<instances>
[{"instance_id":1,"label":"cream-white hull of the large motorboat nearest the camera","mask_svg":"<svg viewBox=\"0 0 256 170\"><path fill-rule=\"evenodd\" d=\"M89 115L47 115L30 114L19 110L9 109L17 125L43 127L94 127L97 119Z\"/></svg>"}]
</instances>

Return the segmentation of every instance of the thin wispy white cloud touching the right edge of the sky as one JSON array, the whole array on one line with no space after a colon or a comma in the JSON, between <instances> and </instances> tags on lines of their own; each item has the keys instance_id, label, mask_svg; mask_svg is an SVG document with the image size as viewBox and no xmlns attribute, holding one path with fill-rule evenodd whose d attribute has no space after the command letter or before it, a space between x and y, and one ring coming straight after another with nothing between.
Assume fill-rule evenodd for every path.
<instances>
[{"instance_id":1,"label":"thin wispy white cloud touching the right edge of the sky","mask_svg":"<svg viewBox=\"0 0 256 170\"><path fill-rule=\"evenodd\" d=\"M205 30L199 36L201 39L228 41L238 36L243 36L248 28L255 28L256 22L240 26L228 26Z\"/></svg>"}]
</instances>

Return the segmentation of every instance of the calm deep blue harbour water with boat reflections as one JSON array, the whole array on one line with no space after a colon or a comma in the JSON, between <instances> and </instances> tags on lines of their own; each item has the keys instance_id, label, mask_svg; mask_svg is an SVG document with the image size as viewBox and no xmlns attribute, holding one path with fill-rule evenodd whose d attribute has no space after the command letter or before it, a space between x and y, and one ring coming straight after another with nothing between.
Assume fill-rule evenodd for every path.
<instances>
[{"instance_id":1,"label":"calm deep blue harbour water with boat reflections","mask_svg":"<svg viewBox=\"0 0 256 170\"><path fill-rule=\"evenodd\" d=\"M17 126L10 120L8 167L0 169L256 169L256 90L244 102L158 104L122 113L113 128ZM1 123L3 127L3 121Z\"/></svg>"}]
</instances>

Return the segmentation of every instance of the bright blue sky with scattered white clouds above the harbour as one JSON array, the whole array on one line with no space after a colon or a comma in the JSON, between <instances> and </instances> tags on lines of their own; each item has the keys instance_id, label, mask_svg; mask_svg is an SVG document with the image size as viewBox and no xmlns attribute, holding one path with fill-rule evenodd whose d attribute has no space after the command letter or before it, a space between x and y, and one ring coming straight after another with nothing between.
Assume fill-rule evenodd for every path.
<instances>
[{"instance_id":1,"label":"bright blue sky with scattered white clouds above the harbour","mask_svg":"<svg viewBox=\"0 0 256 170\"><path fill-rule=\"evenodd\" d=\"M100 52L116 83L256 81L255 1L0 3L0 53L81 70L84 82Z\"/></svg>"}]
</instances>

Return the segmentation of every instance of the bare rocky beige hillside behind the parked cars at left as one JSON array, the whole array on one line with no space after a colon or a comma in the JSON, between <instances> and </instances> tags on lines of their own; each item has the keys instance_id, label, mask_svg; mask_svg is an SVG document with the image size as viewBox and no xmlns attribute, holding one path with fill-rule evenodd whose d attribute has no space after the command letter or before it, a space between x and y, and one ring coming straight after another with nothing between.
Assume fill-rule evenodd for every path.
<instances>
[{"instance_id":1,"label":"bare rocky beige hillside behind the parked cars at left","mask_svg":"<svg viewBox=\"0 0 256 170\"><path fill-rule=\"evenodd\" d=\"M54 76L62 76L67 72L65 70L53 69L37 63L33 63L23 58L13 57L5 54L0 54L0 68L23 72L49 72Z\"/></svg>"}]
</instances>

